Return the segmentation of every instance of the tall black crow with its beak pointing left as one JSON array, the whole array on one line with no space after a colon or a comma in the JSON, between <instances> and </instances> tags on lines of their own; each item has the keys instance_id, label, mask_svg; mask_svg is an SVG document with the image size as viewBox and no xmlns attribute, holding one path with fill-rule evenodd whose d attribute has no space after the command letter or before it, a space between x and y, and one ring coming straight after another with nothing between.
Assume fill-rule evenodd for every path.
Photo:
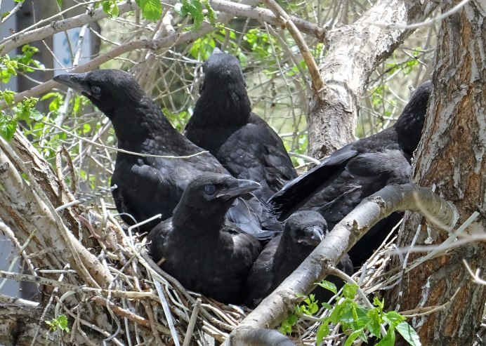
<instances>
[{"instance_id":1,"label":"tall black crow with its beak pointing left","mask_svg":"<svg viewBox=\"0 0 486 346\"><path fill-rule=\"evenodd\" d=\"M162 213L165 220L171 217L190 180L203 172L228 173L213 155L171 126L130 74L98 69L63 74L54 80L81 91L112 121L119 149L140 154L117 152L111 183L117 185L113 199L119 213L130 214L136 222ZM229 218L245 232L258 233L265 221L261 208L256 197L237 199ZM129 225L135 223L126 215L121 218ZM158 222L139 230L149 231Z\"/></svg>"}]
</instances>

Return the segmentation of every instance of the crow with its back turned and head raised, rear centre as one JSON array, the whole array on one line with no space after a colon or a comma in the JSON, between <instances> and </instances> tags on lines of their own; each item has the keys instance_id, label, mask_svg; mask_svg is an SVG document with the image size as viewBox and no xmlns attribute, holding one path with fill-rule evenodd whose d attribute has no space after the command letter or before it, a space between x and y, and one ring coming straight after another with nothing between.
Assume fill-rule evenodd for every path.
<instances>
[{"instance_id":1,"label":"crow with its back turned and head raised, rear centre","mask_svg":"<svg viewBox=\"0 0 486 346\"><path fill-rule=\"evenodd\" d=\"M215 48L203 69L201 97L185 135L233 176L260 183L254 193L266 201L297 177L289 154L277 133L251 112L237 58Z\"/></svg>"}]
</instances>

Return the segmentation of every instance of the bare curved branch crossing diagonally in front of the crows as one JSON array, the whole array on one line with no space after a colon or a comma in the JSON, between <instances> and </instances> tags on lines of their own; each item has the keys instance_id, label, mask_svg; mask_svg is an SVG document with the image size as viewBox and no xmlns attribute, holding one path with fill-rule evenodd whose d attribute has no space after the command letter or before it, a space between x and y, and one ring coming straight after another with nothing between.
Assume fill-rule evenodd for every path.
<instances>
[{"instance_id":1,"label":"bare curved branch crossing diagonally in front of the crows","mask_svg":"<svg viewBox=\"0 0 486 346\"><path fill-rule=\"evenodd\" d=\"M252 328L274 328L299 302L296 293L308 294L314 283L322 281L329 266L336 265L341 257L356 244L376 222L394 211L413 210L428 215L431 220L451 227L457 220L457 211L452 204L433 194L430 189L416 185L390 185L363 200L346 215L306 260L265 298L245 318L226 340L225 345L241 345L235 340L244 340ZM249 344L250 345L250 344Z\"/></svg>"}]
</instances>

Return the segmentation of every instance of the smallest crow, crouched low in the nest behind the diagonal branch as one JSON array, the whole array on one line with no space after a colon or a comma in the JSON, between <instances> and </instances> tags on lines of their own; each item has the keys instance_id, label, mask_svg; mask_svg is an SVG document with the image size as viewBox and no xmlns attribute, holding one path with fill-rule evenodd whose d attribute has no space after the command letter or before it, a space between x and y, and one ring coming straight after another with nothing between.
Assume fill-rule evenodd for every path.
<instances>
[{"instance_id":1,"label":"smallest crow, crouched low in the nest behind the diagonal branch","mask_svg":"<svg viewBox=\"0 0 486 346\"><path fill-rule=\"evenodd\" d=\"M256 307L282 281L301 265L327 234L327 222L316 211L298 211L285 222L284 232L270 240L251 267L247 279L245 305ZM336 266L346 274L353 273L353 264L344 255ZM326 278L341 288L344 282L330 275ZM320 286L313 293L319 302L327 302L334 294Z\"/></svg>"}]
</instances>

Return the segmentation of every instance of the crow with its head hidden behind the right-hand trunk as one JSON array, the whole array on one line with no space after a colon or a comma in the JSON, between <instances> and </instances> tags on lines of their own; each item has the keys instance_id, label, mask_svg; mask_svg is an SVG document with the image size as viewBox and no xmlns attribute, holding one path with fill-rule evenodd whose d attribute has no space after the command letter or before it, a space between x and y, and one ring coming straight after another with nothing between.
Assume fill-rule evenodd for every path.
<instances>
[{"instance_id":1,"label":"crow with its head hidden behind the right-hand trunk","mask_svg":"<svg viewBox=\"0 0 486 346\"><path fill-rule=\"evenodd\" d=\"M409 182L410 160L419 145L431 82L416 88L396 123L379 133L336 150L307 173L289 182L269 200L281 220L298 210L319 211L329 229L388 184ZM400 220L397 213L382 220L351 248L355 266L369 258Z\"/></svg>"}]
</instances>

